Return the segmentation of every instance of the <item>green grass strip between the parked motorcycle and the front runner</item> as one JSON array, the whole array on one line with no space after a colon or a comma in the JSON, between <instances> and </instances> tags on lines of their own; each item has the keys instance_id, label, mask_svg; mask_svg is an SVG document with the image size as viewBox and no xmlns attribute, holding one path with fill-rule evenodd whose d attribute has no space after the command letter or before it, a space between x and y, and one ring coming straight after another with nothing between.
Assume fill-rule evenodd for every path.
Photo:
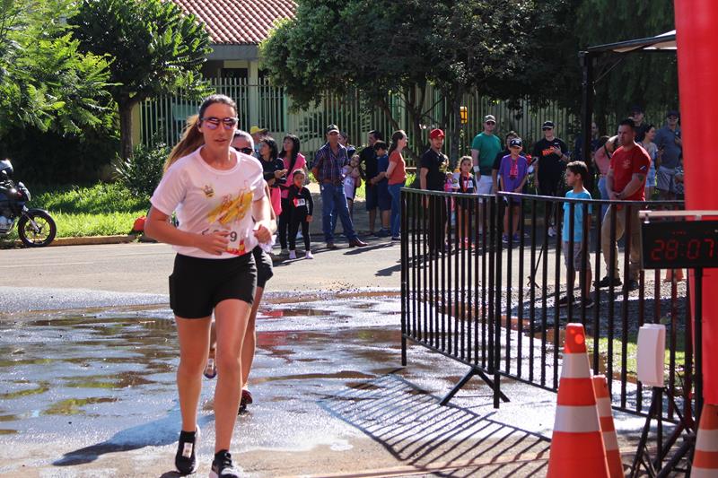
<instances>
[{"instance_id":1,"label":"green grass strip between the parked motorcycle and the front runner","mask_svg":"<svg viewBox=\"0 0 718 478\"><path fill-rule=\"evenodd\" d=\"M29 207L46 209L57 223L57 238L128 234L136 218L147 213L148 198L118 184L31 189ZM14 241L17 228L4 241Z\"/></svg>"}]
</instances>

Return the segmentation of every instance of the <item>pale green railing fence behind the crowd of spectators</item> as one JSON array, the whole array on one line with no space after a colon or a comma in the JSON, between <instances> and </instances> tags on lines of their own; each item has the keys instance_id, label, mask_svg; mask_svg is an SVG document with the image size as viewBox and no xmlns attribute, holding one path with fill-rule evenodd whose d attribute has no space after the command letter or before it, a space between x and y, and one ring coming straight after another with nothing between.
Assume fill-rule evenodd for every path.
<instances>
[{"instance_id":1,"label":"pale green railing fence behind the crowd of spectators","mask_svg":"<svg viewBox=\"0 0 718 478\"><path fill-rule=\"evenodd\" d=\"M299 136L302 152L311 157L324 143L324 128L337 124L349 135L350 142L361 145L366 142L366 135L372 129L378 129L389 137L394 130L390 119L380 109L367 110L358 92L344 96L327 94L316 108L291 111L291 100L286 96L284 88L276 87L267 79L258 83L249 83L246 78L213 78L212 87L218 93L225 94L237 102L240 127L249 130L250 126L266 127L272 135L281 140L285 134ZM425 124L428 130L441 124L444 113L449 108L446 101L441 100L440 92L428 87L425 110ZM198 100L188 100L188 96L180 91L176 95L166 95L146 100L140 105L140 131L145 145L163 142L176 143L184 128L188 116L196 114ZM397 96L389 99L392 116L398 118L398 124L409 133L409 147L415 151L426 142L426 137L411 137L409 118L402 100ZM468 94L462 104L468 109L468 123L463 126L460 137L459 153L468 154L474 135L482 130L483 118L488 115L496 117L497 133L515 130L530 144L541 137L541 123L551 119L556 123L556 134L570 146L574 144L574 135L578 130L579 118L570 114L567 109L556 104L537 108L529 101L522 101L519 109L511 109L505 101L492 100L478 93ZM453 117L446 129L451 131L457 127ZM447 137L446 152L451 151L451 139Z\"/></svg>"}]
</instances>

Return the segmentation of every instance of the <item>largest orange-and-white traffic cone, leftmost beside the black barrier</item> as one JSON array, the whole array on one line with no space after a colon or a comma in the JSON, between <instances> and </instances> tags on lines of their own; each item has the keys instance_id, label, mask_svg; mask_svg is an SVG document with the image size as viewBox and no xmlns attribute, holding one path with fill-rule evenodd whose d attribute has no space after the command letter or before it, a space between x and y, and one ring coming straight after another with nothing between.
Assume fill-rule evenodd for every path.
<instances>
[{"instance_id":1,"label":"largest orange-and-white traffic cone, leftmost beside the black barrier","mask_svg":"<svg viewBox=\"0 0 718 478\"><path fill-rule=\"evenodd\" d=\"M586 335L581 324L568 324L547 477L575 476L609 478L609 465L591 384Z\"/></svg>"}]
</instances>

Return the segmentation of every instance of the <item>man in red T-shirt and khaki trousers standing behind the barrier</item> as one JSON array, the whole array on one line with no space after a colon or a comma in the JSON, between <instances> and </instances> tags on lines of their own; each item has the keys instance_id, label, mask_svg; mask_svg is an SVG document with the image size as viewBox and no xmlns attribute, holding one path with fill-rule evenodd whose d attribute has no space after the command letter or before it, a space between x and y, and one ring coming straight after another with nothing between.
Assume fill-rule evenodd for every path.
<instances>
[{"instance_id":1,"label":"man in red T-shirt and khaki trousers standing behind the barrier","mask_svg":"<svg viewBox=\"0 0 718 478\"><path fill-rule=\"evenodd\" d=\"M621 147L613 153L606 175L606 190L609 199L622 201L645 201L645 178L651 167L651 157L644 148L635 143L633 119L624 119L618 125L618 143ZM641 223L638 221L639 204L611 204L603 216L600 247L606 263L606 276L597 283L598 287L622 285L618 269L617 240L623 237L626 227L631 230L629 273L627 289L638 288L638 273L641 270ZM616 215L616 237L611 238L611 215ZM627 224L626 224L627 223ZM610 263L613 248L613 264Z\"/></svg>"}]
</instances>

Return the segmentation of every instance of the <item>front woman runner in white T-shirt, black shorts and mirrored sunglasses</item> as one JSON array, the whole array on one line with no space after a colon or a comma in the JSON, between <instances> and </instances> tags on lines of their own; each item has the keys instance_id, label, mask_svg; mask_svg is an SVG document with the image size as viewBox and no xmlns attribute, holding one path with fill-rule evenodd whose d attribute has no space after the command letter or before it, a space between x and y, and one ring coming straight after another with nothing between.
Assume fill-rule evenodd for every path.
<instances>
[{"instance_id":1,"label":"front woman runner in white T-shirt, black shorts and mirrored sunglasses","mask_svg":"<svg viewBox=\"0 0 718 478\"><path fill-rule=\"evenodd\" d=\"M241 343L257 283L250 252L270 241L276 225L261 164L230 147L237 121L230 98L213 95L202 103L165 164L145 225L148 236L173 245L178 253L170 276L170 305L180 344L182 428L175 456L180 474L197 471L197 404L214 310L219 379L210 477L240 476L229 449L240 406ZM177 228L168 222L173 212L180 221Z\"/></svg>"}]
</instances>

